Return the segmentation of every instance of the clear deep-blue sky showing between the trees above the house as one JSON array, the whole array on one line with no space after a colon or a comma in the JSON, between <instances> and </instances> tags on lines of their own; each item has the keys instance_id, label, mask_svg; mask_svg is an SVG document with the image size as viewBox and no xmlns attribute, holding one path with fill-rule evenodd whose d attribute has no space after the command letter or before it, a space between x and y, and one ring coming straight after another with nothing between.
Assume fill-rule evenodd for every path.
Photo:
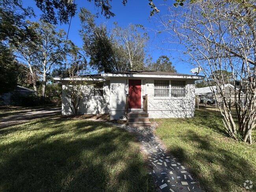
<instances>
[{"instance_id":1,"label":"clear deep-blue sky showing between the trees above the house","mask_svg":"<svg viewBox=\"0 0 256 192\"><path fill-rule=\"evenodd\" d=\"M159 41L163 37L163 35L156 36L152 31L156 27L157 17L153 16L150 18L150 6L148 5L148 0L128 0L126 6L122 5L122 0L113 0L111 2L112 12L115 13L115 17L110 19L106 19L103 15L99 15L96 19L96 23L105 23L109 29L113 27L113 22L117 22L119 26L128 26L128 24L141 24L143 25L150 37L147 52L151 55L154 61L158 59L160 55L167 55L171 58L173 65L175 66L178 73L183 74L191 74L189 70L193 68L192 66L184 63L178 59L180 56L178 52L175 51L166 51L158 49L158 47L163 47ZM155 0L156 2L163 3L163 0ZM169 3L173 3L174 1L169 1ZM77 46L82 46L82 39L78 34L78 30L80 29L80 20L78 17L78 11L80 7L85 7L89 9L92 13L96 13L96 7L94 6L94 2L89 3L87 0L76 0L76 4L78 4L78 9L75 17L72 18L70 30L69 30L69 39L71 39ZM41 14L41 11L35 6L34 0L23 0L23 6L33 7L37 18L32 18L32 20L37 20ZM160 9L161 13L165 12L165 7L157 5L158 9ZM63 28L66 32L68 31L68 24L58 25L58 28ZM157 46L156 46L157 45Z\"/></svg>"}]
</instances>

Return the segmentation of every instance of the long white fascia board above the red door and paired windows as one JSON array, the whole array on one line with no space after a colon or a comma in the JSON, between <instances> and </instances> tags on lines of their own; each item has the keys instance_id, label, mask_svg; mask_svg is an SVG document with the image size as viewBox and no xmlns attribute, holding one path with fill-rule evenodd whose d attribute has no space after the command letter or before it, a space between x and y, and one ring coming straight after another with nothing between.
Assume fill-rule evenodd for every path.
<instances>
[{"instance_id":1,"label":"long white fascia board above the red door and paired windows","mask_svg":"<svg viewBox=\"0 0 256 192\"><path fill-rule=\"evenodd\" d=\"M168 78L168 79L202 79L202 76L170 76L170 75L141 75L141 74L101 74L102 77L133 77L133 78Z\"/></svg>"}]
</instances>

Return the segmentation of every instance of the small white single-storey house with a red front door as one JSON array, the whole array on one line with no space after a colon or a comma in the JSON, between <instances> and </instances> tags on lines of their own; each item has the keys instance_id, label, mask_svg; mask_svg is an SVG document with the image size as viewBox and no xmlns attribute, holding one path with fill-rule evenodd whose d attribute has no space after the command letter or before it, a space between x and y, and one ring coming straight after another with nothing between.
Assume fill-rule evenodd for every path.
<instances>
[{"instance_id":1,"label":"small white single-storey house with a red front door","mask_svg":"<svg viewBox=\"0 0 256 192\"><path fill-rule=\"evenodd\" d=\"M62 89L70 86L70 78L54 78L61 81ZM195 80L202 76L158 71L130 71L102 73L78 77L91 89L83 96L80 114L110 113L111 119L124 119L126 95L131 110L143 108L143 96L147 95L149 118L193 117L195 111ZM68 98L63 91L62 114L72 114Z\"/></svg>"}]
</instances>

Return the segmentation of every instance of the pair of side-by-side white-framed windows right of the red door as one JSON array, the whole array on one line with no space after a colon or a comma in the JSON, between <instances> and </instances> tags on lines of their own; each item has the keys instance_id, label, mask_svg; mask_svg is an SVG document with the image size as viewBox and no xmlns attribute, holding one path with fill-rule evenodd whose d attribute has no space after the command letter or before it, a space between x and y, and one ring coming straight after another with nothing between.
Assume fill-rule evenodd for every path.
<instances>
[{"instance_id":1,"label":"pair of side-by-side white-framed windows right of the red door","mask_svg":"<svg viewBox=\"0 0 256 192\"><path fill-rule=\"evenodd\" d=\"M155 80L155 97L186 97L186 81Z\"/></svg>"}]
</instances>

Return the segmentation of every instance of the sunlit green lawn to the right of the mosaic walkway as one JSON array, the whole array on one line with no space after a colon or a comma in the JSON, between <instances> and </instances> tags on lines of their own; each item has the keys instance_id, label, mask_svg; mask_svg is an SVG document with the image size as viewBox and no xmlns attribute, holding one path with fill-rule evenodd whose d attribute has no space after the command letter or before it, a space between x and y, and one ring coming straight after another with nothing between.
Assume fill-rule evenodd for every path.
<instances>
[{"instance_id":1,"label":"sunlit green lawn to the right of the mosaic walkway","mask_svg":"<svg viewBox=\"0 0 256 192\"><path fill-rule=\"evenodd\" d=\"M209 192L256 191L256 144L228 138L220 114L196 110L195 118L155 119L156 134Z\"/></svg>"}]
</instances>

